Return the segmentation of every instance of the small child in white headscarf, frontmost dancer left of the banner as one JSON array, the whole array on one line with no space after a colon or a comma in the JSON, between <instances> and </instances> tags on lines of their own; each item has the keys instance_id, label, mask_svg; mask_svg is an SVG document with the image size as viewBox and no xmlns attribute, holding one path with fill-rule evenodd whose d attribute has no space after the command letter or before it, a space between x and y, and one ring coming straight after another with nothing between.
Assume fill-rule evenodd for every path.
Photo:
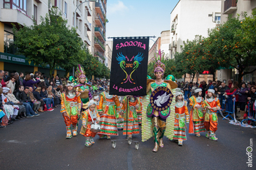
<instances>
[{"instance_id":1,"label":"small child in white headscarf, frontmost dancer left of the banner","mask_svg":"<svg viewBox=\"0 0 256 170\"><path fill-rule=\"evenodd\" d=\"M93 137L97 134L96 132L91 131L91 124L95 122L99 124L100 118L94 100L89 101L88 107L89 109L82 112L83 118L80 134L86 137L86 147L91 147L91 144L95 143Z\"/></svg>"}]
</instances>

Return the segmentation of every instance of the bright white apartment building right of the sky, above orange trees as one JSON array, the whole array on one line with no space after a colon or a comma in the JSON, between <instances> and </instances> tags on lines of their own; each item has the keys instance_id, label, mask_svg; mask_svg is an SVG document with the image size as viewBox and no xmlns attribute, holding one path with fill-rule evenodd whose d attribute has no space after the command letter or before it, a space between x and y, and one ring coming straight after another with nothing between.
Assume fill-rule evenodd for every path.
<instances>
[{"instance_id":1,"label":"bright white apartment building right of the sky, above orange trees","mask_svg":"<svg viewBox=\"0 0 256 170\"><path fill-rule=\"evenodd\" d=\"M221 0L180 0L170 13L170 58L181 52L181 46L187 39L196 35L208 36L208 29L221 23ZM212 80L211 74L197 74L194 82ZM191 81L187 74L185 81Z\"/></svg>"}]
</instances>

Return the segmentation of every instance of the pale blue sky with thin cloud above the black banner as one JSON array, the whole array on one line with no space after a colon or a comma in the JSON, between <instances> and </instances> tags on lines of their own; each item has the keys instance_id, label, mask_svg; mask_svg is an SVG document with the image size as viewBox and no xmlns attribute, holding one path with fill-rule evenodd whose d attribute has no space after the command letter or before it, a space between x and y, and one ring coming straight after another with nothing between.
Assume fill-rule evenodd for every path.
<instances>
[{"instance_id":1,"label":"pale blue sky with thin cloud above the black banner","mask_svg":"<svg viewBox=\"0 0 256 170\"><path fill-rule=\"evenodd\" d=\"M158 37L162 31L170 30L170 12L177 3L178 0L108 0L107 37ZM150 46L154 43L149 42Z\"/></svg>"}]
</instances>

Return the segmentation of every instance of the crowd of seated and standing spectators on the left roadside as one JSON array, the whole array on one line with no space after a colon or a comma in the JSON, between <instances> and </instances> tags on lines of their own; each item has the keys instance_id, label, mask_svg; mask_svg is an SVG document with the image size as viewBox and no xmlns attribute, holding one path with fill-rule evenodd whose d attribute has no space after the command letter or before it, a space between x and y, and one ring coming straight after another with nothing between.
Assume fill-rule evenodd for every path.
<instances>
[{"instance_id":1,"label":"crowd of seated and standing spectators on the left roadside","mask_svg":"<svg viewBox=\"0 0 256 170\"><path fill-rule=\"evenodd\" d=\"M41 72L34 74L9 73L0 70L0 127L40 112L53 111L61 104L61 93L69 78L58 75L48 78ZM91 94L107 88L105 80L89 80Z\"/></svg>"}]
</instances>

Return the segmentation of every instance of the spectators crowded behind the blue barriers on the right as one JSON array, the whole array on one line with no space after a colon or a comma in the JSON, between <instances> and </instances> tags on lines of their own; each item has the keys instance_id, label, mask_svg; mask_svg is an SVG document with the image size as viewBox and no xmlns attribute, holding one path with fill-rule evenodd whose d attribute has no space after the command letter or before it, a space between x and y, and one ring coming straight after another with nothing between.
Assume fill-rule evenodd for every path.
<instances>
[{"instance_id":1,"label":"spectators crowded behind the blue barriers on the right","mask_svg":"<svg viewBox=\"0 0 256 170\"><path fill-rule=\"evenodd\" d=\"M178 88L184 90L184 98L188 99L194 93L195 88L202 88L203 98L206 96L206 91L208 89L214 89L215 94L218 96L219 101L222 103L222 96L228 98L232 96L236 98L235 102L235 112L236 115L240 115L238 120L243 120L248 115L248 104L251 106L251 110L255 110L255 100L256 100L256 85L255 82L233 82L233 80L228 80L227 85L225 82L221 81L211 81L208 80L208 85L206 81L200 82L200 85L195 82L178 82ZM238 114L240 113L240 114Z\"/></svg>"}]
</instances>

